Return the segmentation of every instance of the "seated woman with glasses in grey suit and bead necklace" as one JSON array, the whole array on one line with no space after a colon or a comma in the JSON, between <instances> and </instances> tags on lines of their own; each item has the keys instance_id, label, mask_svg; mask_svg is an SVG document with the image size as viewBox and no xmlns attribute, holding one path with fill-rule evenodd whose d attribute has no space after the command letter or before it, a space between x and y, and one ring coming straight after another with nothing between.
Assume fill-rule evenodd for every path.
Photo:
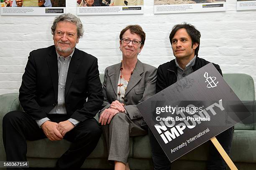
<instances>
[{"instance_id":1,"label":"seated woman with glasses in grey suit and bead necklace","mask_svg":"<svg viewBox=\"0 0 256 170\"><path fill-rule=\"evenodd\" d=\"M129 170L129 137L148 132L136 105L155 94L156 68L138 60L146 38L141 26L128 25L119 37L123 60L105 69L99 122L108 160L115 170Z\"/></svg>"}]
</instances>

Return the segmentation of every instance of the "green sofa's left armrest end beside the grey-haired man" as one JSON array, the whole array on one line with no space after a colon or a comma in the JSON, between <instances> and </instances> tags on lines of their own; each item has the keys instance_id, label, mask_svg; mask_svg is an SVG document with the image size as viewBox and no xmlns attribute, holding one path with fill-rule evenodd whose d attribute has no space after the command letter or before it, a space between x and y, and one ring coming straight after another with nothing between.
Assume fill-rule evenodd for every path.
<instances>
[{"instance_id":1,"label":"green sofa's left armrest end beside the grey-haired man","mask_svg":"<svg viewBox=\"0 0 256 170\"><path fill-rule=\"evenodd\" d=\"M22 107L20 106L18 96L18 93L0 95L0 161L6 160L5 149L3 146L3 117L5 116L5 114L13 110L23 111Z\"/></svg>"}]
</instances>

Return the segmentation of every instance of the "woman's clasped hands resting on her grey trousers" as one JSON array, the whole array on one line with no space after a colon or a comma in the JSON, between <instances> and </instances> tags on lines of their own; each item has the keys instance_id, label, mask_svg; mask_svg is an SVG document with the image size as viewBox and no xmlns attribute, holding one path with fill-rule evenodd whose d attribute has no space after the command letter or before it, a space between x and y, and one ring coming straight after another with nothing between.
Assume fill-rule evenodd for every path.
<instances>
[{"instance_id":1,"label":"woman's clasped hands resting on her grey trousers","mask_svg":"<svg viewBox=\"0 0 256 170\"><path fill-rule=\"evenodd\" d=\"M118 100L115 100L111 103L108 109L105 109L102 114L100 114L99 122L101 125L110 124L111 119L118 113L124 113L125 108L124 105L120 103Z\"/></svg>"}]
</instances>

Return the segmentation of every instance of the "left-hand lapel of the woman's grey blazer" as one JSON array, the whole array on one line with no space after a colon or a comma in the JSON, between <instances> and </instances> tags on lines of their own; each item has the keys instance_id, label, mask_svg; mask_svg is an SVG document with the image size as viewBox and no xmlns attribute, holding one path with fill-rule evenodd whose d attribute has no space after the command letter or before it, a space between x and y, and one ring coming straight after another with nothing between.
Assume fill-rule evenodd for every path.
<instances>
[{"instance_id":1,"label":"left-hand lapel of the woman's grey blazer","mask_svg":"<svg viewBox=\"0 0 256 170\"><path fill-rule=\"evenodd\" d=\"M116 64L111 70L108 71L108 76L113 87L115 95L117 95L118 78L120 74L120 67L122 63Z\"/></svg>"}]
</instances>

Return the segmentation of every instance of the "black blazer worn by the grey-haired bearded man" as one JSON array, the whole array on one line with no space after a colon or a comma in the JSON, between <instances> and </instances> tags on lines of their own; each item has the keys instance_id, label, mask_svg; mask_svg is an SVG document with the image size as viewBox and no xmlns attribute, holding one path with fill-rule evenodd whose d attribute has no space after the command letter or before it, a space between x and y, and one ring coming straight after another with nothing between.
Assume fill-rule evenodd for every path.
<instances>
[{"instance_id":1,"label":"black blazer worn by the grey-haired bearded man","mask_svg":"<svg viewBox=\"0 0 256 170\"><path fill-rule=\"evenodd\" d=\"M19 100L24 111L34 120L47 117L56 106L58 81L55 46L32 51L22 77ZM79 121L92 118L100 109L102 101L97 58L75 48L65 85L67 115Z\"/></svg>"}]
</instances>

